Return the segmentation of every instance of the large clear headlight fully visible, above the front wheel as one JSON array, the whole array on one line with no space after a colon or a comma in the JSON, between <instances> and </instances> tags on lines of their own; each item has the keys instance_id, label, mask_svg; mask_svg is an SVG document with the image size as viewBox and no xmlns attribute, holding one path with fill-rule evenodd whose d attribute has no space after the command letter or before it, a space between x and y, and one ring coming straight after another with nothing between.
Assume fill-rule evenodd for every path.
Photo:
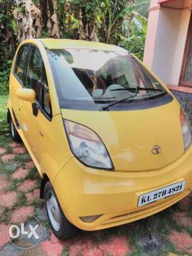
<instances>
[{"instance_id":1,"label":"large clear headlight fully visible, above the front wheel","mask_svg":"<svg viewBox=\"0 0 192 256\"><path fill-rule=\"evenodd\" d=\"M64 120L70 150L86 166L113 169L108 151L99 136L92 129Z\"/></svg>"}]
</instances>

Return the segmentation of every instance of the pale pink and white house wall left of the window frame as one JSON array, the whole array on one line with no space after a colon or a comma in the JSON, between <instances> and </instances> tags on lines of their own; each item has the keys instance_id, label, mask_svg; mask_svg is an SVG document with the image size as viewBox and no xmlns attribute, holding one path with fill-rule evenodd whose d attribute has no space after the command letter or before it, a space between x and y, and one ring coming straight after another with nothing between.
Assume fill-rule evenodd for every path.
<instances>
[{"instance_id":1,"label":"pale pink and white house wall left of the window frame","mask_svg":"<svg viewBox=\"0 0 192 256\"><path fill-rule=\"evenodd\" d=\"M191 0L180 0L182 8L161 8L151 0L144 62L165 84L179 84L180 68L191 12ZM175 4L178 4L178 0Z\"/></svg>"}]
</instances>

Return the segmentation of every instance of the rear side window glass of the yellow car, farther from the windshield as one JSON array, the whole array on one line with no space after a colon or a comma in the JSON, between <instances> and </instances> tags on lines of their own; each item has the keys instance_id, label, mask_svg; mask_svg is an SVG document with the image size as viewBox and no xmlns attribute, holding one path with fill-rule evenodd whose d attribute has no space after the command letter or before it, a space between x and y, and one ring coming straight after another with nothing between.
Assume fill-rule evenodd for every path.
<instances>
[{"instance_id":1,"label":"rear side window glass of the yellow car, farther from the windshield","mask_svg":"<svg viewBox=\"0 0 192 256\"><path fill-rule=\"evenodd\" d=\"M15 64L14 73L17 75L17 77L19 77L23 86L25 86L26 68L28 65L29 49L30 49L29 45L24 45L20 48L19 53L17 54L17 60Z\"/></svg>"}]
</instances>

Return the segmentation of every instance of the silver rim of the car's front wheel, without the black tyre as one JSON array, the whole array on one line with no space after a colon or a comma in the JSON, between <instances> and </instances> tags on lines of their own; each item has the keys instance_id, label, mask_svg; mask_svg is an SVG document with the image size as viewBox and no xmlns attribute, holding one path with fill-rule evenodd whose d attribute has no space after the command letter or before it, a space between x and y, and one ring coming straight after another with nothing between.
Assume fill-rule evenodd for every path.
<instances>
[{"instance_id":1,"label":"silver rim of the car's front wheel, without the black tyre","mask_svg":"<svg viewBox=\"0 0 192 256\"><path fill-rule=\"evenodd\" d=\"M54 193L52 193L51 190L47 191L46 204L49 220L51 221L52 227L54 227L56 231L59 231L61 227L61 214L56 197L54 196Z\"/></svg>"}]
</instances>

